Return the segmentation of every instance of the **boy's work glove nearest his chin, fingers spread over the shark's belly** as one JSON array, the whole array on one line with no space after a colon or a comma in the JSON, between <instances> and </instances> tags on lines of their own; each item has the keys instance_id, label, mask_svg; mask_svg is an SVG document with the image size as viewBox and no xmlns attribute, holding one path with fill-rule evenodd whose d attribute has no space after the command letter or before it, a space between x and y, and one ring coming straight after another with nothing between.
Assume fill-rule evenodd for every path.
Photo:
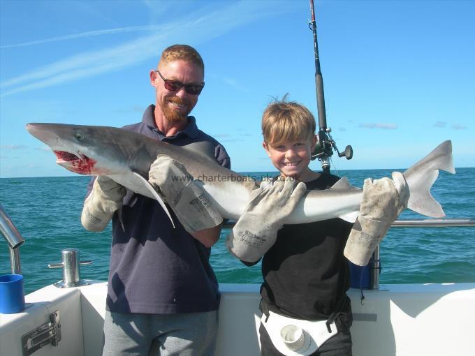
<instances>
[{"instance_id":1,"label":"boy's work glove nearest his chin, fingers spread over the shark's belly","mask_svg":"<svg viewBox=\"0 0 475 356\"><path fill-rule=\"evenodd\" d=\"M249 205L226 240L231 254L245 262L256 262L272 247L277 231L307 191L305 183L295 186L290 177L265 185L263 181L261 188L251 192Z\"/></svg>"}]
</instances>

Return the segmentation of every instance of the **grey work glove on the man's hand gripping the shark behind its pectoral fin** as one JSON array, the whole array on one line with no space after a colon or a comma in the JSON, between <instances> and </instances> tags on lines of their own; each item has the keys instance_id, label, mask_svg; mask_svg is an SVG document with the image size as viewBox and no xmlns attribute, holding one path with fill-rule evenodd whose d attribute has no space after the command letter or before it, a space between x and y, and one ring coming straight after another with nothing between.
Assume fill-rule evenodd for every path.
<instances>
[{"instance_id":1,"label":"grey work glove on the man's hand gripping the shark behind its pectoral fin","mask_svg":"<svg viewBox=\"0 0 475 356\"><path fill-rule=\"evenodd\" d=\"M182 163L159 154L150 166L149 182L190 234L222 223L221 214Z\"/></svg>"}]
</instances>

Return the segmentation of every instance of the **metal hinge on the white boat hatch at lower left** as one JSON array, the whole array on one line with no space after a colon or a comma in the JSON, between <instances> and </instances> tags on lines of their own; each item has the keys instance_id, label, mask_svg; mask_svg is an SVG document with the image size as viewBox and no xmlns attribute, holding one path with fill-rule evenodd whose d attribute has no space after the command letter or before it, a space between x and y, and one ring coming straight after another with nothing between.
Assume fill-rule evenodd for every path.
<instances>
[{"instance_id":1,"label":"metal hinge on the white boat hatch at lower left","mask_svg":"<svg viewBox=\"0 0 475 356\"><path fill-rule=\"evenodd\" d=\"M23 356L31 355L38 348L50 343L52 346L58 346L59 341L61 341L61 323L59 322L59 311L54 311L50 315L50 322L46 322L22 336Z\"/></svg>"}]
</instances>

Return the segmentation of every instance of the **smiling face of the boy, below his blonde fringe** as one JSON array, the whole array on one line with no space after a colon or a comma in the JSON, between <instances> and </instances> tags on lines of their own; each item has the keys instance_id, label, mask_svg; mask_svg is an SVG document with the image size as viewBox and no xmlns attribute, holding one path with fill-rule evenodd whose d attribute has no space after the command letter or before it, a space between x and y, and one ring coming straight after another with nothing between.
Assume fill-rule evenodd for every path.
<instances>
[{"instance_id":1,"label":"smiling face of the boy, below his blonde fringe","mask_svg":"<svg viewBox=\"0 0 475 356\"><path fill-rule=\"evenodd\" d=\"M308 166L316 145L315 135L307 140L285 141L275 145L263 142L262 145L283 177L307 181L312 175Z\"/></svg>"}]
</instances>

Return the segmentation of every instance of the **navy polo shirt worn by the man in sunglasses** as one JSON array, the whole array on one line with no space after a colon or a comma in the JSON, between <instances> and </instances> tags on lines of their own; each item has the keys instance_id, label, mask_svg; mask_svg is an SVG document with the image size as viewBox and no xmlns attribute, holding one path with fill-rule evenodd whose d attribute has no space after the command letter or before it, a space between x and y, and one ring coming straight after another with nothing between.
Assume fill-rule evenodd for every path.
<instances>
[{"instance_id":1,"label":"navy polo shirt worn by the man in sunglasses","mask_svg":"<svg viewBox=\"0 0 475 356\"><path fill-rule=\"evenodd\" d=\"M167 138L155 128L154 105L150 105L142 122L124 128L180 146L199 142L197 147L230 168L226 149L198 130L194 117L189 117L187 128ZM122 207L125 231L114 214L109 311L160 314L218 309L218 282L209 262L211 249L189 235L173 210L169 211L175 229L156 200L129 191Z\"/></svg>"}]
</instances>

